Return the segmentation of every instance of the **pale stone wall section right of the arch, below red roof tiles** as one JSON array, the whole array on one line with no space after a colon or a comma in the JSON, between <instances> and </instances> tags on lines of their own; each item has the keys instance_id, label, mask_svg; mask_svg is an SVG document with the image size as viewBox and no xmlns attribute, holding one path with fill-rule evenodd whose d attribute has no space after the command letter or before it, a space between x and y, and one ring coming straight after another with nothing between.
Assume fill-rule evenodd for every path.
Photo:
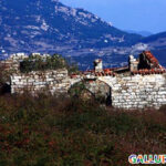
<instances>
[{"instance_id":1,"label":"pale stone wall section right of the arch, below red roof tiles","mask_svg":"<svg viewBox=\"0 0 166 166\"><path fill-rule=\"evenodd\" d=\"M112 105L122 108L159 108L166 104L166 75L98 77L112 87Z\"/></svg>"}]
</instances>

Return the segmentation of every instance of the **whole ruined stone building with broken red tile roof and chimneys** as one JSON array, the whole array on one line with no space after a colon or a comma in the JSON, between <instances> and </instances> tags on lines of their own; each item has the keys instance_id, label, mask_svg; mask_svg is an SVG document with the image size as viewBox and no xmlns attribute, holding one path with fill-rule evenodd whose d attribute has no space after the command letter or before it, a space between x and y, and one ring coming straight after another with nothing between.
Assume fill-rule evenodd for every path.
<instances>
[{"instance_id":1,"label":"whole ruined stone building with broken red tile roof and chimneys","mask_svg":"<svg viewBox=\"0 0 166 166\"><path fill-rule=\"evenodd\" d=\"M66 69L21 73L20 62L25 58L24 54L15 54L0 64L6 70L15 70L10 76L12 94L27 91L34 95L42 91L66 94L83 83L84 93L103 97L114 107L159 108L166 104L166 70L149 51L142 52L138 59L129 55L128 65L123 68L103 69L102 60L95 60L93 70L71 75Z\"/></svg>"}]
</instances>

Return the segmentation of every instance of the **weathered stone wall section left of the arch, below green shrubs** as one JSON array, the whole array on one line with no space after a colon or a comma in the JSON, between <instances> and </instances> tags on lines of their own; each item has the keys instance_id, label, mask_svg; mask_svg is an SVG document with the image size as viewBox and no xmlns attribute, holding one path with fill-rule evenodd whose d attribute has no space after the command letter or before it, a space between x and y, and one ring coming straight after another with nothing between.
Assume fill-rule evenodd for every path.
<instances>
[{"instance_id":1,"label":"weathered stone wall section left of the arch, below green shrubs","mask_svg":"<svg viewBox=\"0 0 166 166\"><path fill-rule=\"evenodd\" d=\"M23 93L28 91L32 94L38 92L49 92L51 94L66 93L70 89L68 70L17 73L11 75L11 93Z\"/></svg>"}]
</instances>

